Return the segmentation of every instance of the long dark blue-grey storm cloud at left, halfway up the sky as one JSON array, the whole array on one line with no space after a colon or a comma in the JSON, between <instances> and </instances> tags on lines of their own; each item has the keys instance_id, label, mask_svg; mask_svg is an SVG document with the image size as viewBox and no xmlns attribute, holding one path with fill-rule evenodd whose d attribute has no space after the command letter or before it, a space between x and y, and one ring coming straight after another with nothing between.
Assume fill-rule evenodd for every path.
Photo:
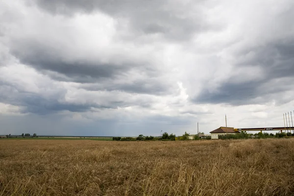
<instances>
[{"instance_id":1,"label":"long dark blue-grey storm cloud at left, halfway up the sky","mask_svg":"<svg viewBox=\"0 0 294 196\"><path fill-rule=\"evenodd\" d=\"M66 56L63 54L64 51L60 50L60 47L52 48L47 46L45 42L46 40L44 40L44 43L32 39L14 40L10 51L20 62L32 66L38 71L61 73L67 76L68 80L82 83L114 77L137 67L131 61L122 61L120 64L115 64L102 63L98 59L91 61L87 57L76 59L74 53ZM149 69L150 72L152 70ZM50 76L57 80L66 80L64 77L58 77L58 75L50 74Z\"/></svg>"}]
</instances>

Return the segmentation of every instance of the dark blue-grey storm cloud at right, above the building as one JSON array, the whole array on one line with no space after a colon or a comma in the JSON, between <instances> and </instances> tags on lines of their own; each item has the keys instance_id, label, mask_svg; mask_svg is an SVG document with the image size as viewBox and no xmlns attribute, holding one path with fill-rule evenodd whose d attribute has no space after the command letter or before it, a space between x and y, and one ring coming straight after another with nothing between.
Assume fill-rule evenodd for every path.
<instances>
[{"instance_id":1,"label":"dark blue-grey storm cloud at right, above the building","mask_svg":"<svg viewBox=\"0 0 294 196\"><path fill-rule=\"evenodd\" d=\"M207 87L204 88L196 98L192 98L192 101L232 105L265 103L273 98L282 101L283 98L279 98L278 93L289 90L289 84L290 89L293 88L289 78L294 77L294 42L279 41L263 47L244 49L238 52L236 59L249 52L254 53L253 57L237 63L235 69L257 66L262 70L261 75L258 76L259 79L238 82L238 75L235 75L221 83L217 90L211 91Z\"/></svg>"}]
</instances>

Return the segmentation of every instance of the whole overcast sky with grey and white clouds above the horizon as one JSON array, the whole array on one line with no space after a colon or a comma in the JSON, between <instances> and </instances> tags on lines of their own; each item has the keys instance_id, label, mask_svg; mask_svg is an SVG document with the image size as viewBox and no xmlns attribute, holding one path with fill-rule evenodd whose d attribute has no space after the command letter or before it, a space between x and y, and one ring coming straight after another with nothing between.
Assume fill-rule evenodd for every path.
<instances>
[{"instance_id":1,"label":"whole overcast sky with grey and white clouds above the horizon","mask_svg":"<svg viewBox=\"0 0 294 196\"><path fill-rule=\"evenodd\" d=\"M0 134L284 126L293 19L293 0L1 0Z\"/></svg>"}]
</instances>

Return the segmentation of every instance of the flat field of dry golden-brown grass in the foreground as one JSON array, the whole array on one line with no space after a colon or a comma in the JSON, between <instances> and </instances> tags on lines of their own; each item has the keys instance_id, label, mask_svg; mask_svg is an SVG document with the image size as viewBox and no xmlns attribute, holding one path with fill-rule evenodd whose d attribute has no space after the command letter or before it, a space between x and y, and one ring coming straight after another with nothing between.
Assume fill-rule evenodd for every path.
<instances>
[{"instance_id":1,"label":"flat field of dry golden-brown grass in the foreground","mask_svg":"<svg viewBox=\"0 0 294 196\"><path fill-rule=\"evenodd\" d=\"M294 139L0 140L0 195L294 195Z\"/></svg>"}]
</instances>

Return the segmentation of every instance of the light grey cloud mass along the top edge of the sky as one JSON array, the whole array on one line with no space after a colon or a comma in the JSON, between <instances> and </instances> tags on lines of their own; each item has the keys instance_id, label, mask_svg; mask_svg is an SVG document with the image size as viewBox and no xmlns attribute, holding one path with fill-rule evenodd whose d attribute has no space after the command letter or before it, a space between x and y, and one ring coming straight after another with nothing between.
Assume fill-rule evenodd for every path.
<instances>
[{"instance_id":1,"label":"light grey cloud mass along the top edge of the sky","mask_svg":"<svg viewBox=\"0 0 294 196\"><path fill-rule=\"evenodd\" d=\"M169 40L189 40L201 31L222 28L205 18L204 1L181 3L158 0L35 0L52 14L72 16L76 13L104 12L116 19L126 19L134 34L163 34ZM123 22L124 23L124 22Z\"/></svg>"}]
</instances>

